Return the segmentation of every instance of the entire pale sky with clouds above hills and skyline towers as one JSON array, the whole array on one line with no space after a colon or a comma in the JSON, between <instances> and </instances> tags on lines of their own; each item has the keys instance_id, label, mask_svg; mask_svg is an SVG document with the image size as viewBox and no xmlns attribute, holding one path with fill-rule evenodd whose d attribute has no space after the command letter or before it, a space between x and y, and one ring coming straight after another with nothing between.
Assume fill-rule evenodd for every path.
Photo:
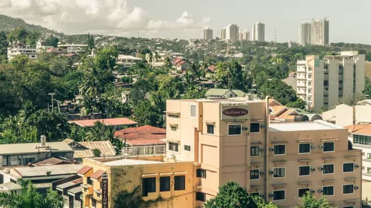
<instances>
[{"instance_id":1,"label":"entire pale sky with clouds above hills and skyline towers","mask_svg":"<svg viewBox=\"0 0 371 208\"><path fill-rule=\"evenodd\" d=\"M266 25L266 41L298 41L299 24L327 18L330 42L371 44L370 0L0 0L0 14L66 34L202 38L203 28Z\"/></svg>"}]
</instances>

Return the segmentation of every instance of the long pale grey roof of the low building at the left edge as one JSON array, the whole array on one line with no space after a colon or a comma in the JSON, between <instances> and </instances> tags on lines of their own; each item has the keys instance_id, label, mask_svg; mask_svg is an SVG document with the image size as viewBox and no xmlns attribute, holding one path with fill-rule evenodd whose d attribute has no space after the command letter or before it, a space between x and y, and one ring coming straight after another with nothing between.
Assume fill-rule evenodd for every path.
<instances>
[{"instance_id":1,"label":"long pale grey roof of the low building at the left edge","mask_svg":"<svg viewBox=\"0 0 371 208\"><path fill-rule=\"evenodd\" d=\"M47 142L46 146L41 147L40 143L16 143L0 144L0 153L2 155L26 154L39 152L72 152L72 148L64 141Z\"/></svg>"}]
</instances>

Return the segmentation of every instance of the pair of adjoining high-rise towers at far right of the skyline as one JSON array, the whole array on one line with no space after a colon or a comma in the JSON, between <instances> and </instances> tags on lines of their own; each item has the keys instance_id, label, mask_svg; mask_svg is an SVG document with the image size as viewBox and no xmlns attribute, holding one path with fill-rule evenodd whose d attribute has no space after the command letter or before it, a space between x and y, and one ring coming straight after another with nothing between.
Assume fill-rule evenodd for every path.
<instances>
[{"instance_id":1,"label":"pair of adjoining high-rise towers at far right of the skyline","mask_svg":"<svg viewBox=\"0 0 371 208\"><path fill-rule=\"evenodd\" d=\"M300 45L329 45L329 20L303 22L299 26Z\"/></svg>"}]
</instances>

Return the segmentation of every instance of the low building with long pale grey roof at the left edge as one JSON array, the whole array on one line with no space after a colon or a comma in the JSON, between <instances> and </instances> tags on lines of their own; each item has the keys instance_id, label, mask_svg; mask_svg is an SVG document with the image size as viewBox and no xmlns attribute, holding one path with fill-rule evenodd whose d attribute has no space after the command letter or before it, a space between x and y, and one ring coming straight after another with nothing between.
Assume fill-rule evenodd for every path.
<instances>
[{"instance_id":1,"label":"low building with long pale grey roof at the left edge","mask_svg":"<svg viewBox=\"0 0 371 208\"><path fill-rule=\"evenodd\" d=\"M51 157L73 161L73 150L63 141L46 142L45 136L41 136L40 143L0 144L0 168L27 165Z\"/></svg>"}]
</instances>

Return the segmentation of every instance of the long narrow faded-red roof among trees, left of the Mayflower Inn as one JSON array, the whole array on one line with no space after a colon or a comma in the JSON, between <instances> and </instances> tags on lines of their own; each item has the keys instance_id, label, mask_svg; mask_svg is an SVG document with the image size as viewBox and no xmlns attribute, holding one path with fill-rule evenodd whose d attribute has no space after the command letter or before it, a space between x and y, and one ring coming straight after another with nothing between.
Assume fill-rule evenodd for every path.
<instances>
[{"instance_id":1,"label":"long narrow faded-red roof among trees, left of the Mayflower Inn","mask_svg":"<svg viewBox=\"0 0 371 208\"><path fill-rule=\"evenodd\" d=\"M100 122L102 124L105 124L105 126L121 126L121 125L137 125L138 124L137 122L131 121L129 118L126 118L126 117L76 120L76 121L69 121L68 123L76 124L81 127L92 127L94 126L95 122Z\"/></svg>"}]
</instances>

